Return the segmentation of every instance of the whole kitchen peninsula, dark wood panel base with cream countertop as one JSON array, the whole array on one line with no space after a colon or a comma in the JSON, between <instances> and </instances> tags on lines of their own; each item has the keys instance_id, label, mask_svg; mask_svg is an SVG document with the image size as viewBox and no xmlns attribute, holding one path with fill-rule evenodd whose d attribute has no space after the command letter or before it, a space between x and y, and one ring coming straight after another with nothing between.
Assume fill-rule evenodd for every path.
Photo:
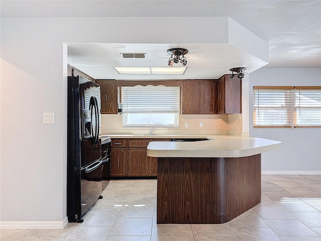
<instances>
[{"instance_id":1,"label":"whole kitchen peninsula, dark wood panel base with cream countertop","mask_svg":"<svg viewBox=\"0 0 321 241\"><path fill-rule=\"evenodd\" d=\"M261 153L281 142L211 136L150 142L157 157L157 223L224 223L261 202Z\"/></svg>"}]
</instances>

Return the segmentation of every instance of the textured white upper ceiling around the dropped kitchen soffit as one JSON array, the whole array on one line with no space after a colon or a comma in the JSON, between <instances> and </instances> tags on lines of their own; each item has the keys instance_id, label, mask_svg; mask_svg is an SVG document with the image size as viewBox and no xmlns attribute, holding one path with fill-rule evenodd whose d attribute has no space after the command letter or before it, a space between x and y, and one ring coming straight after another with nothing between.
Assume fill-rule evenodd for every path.
<instances>
[{"instance_id":1,"label":"textured white upper ceiling around the dropped kitchen soffit","mask_svg":"<svg viewBox=\"0 0 321 241\"><path fill-rule=\"evenodd\" d=\"M230 17L269 43L264 68L321 67L321 1L1 1L1 17Z\"/></svg>"}]
</instances>

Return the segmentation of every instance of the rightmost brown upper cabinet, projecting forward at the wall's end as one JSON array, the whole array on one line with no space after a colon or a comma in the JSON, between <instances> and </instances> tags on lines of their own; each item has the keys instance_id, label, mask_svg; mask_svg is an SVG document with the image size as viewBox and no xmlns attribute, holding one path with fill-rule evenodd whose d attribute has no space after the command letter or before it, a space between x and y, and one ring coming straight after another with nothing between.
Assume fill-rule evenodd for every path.
<instances>
[{"instance_id":1,"label":"rightmost brown upper cabinet, projecting forward at the wall's end","mask_svg":"<svg viewBox=\"0 0 321 241\"><path fill-rule=\"evenodd\" d=\"M235 114L242 113L241 80L223 75L217 81L217 113Z\"/></svg>"}]
</instances>

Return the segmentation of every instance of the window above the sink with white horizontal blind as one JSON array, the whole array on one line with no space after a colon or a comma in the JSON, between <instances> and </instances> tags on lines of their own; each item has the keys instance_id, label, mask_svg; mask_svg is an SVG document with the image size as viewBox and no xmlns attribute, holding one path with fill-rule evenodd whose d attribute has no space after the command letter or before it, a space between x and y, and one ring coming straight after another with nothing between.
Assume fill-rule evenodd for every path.
<instances>
[{"instance_id":1,"label":"window above the sink with white horizontal blind","mask_svg":"<svg viewBox=\"0 0 321 241\"><path fill-rule=\"evenodd\" d=\"M180 87L122 87L124 127L179 127Z\"/></svg>"}]
</instances>

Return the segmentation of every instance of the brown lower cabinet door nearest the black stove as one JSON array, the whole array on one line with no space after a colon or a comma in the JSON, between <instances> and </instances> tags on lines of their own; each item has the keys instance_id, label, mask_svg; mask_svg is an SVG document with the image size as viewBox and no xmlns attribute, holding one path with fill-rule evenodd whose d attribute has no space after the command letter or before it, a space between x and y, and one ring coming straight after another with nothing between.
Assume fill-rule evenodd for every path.
<instances>
[{"instance_id":1,"label":"brown lower cabinet door nearest the black stove","mask_svg":"<svg viewBox=\"0 0 321 241\"><path fill-rule=\"evenodd\" d=\"M111 176L127 176L127 148L112 148L110 165Z\"/></svg>"}]
</instances>

